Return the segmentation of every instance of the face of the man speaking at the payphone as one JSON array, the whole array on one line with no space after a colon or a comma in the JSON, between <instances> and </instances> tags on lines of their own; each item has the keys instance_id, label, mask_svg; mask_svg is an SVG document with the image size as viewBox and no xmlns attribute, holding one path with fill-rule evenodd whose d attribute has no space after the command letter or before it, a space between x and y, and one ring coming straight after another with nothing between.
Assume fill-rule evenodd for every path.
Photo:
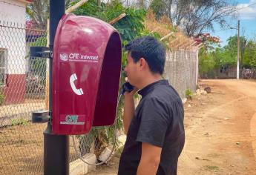
<instances>
[{"instance_id":1,"label":"face of the man speaking at the payphone","mask_svg":"<svg viewBox=\"0 0 256 175\"><path fill-rule=\"evenodd\" d=\"M136 86L137 85L137 81L139 79L139 71L138 71L138 64L140 64L139 62L134 63L134 60L131 58L131 53L128 53L127 56L127 64L125 66L125 73L128 76L128 80L130 82L131 85ZM139 73L139 74L138 74Z\"/></svg>"}]
</instances>

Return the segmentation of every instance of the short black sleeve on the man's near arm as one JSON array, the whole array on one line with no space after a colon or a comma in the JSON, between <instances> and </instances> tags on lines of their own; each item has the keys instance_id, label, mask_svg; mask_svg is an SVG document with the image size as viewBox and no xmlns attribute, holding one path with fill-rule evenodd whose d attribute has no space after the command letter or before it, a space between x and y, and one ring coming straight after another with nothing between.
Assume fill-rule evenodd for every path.
<instances>
[{"instance_id":1,"label":"short black sleeve on the man's near arm","mask_svg":"<svg viewBox=\"0 0 256 175\"><path fill-rule=\"evenodd\" d=\"M157 99L146 99L140 112L140 127L137 142L147 142L162 148L165 133L171 122L171 113L166 105Z\"/></svg>"}]
</instances>

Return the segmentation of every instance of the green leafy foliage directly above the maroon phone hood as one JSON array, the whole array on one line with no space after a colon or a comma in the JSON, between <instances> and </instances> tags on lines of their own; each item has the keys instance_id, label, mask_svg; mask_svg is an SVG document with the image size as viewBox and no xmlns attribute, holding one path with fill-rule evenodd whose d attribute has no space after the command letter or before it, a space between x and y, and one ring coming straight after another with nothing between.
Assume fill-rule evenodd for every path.
<instances>
[{"instance_id":1,"label":"green leafy foliage directly above the maroon phone hood","mask_svg":"<svg viewBox=\"0 0 256 175\"><path fill-rule=\"evenodd\" d=\"M110 4L102 2L99 7L96 0L89 0L74 10L73 13L82 16L93 16L105 22L110 22L120 14L126 13L123 19L113 24L116 30L118 30L122 41L131 41L137 36L141 36L144 29L145 10L123 7L119 1L112 1Z\"/></svg>"}]
</instances>

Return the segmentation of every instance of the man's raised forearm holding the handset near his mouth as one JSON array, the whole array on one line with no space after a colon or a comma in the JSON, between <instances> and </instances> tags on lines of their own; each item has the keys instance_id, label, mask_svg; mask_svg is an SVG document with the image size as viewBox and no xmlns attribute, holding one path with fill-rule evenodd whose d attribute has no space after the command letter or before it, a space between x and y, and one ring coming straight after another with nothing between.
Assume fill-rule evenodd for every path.
<instances>
[{"instance_id":1,"label":"man's raised forearm holding the handset near his mouth","mask_svg":"<svg viewBox=\"0 0 256 175\"><path fill-rule=\"evenodd\" d=\"M137 88L135 87L134 90L131 91L131 93L125 92L125 104L124 104L124 115L122 117L124 128L125 128L125 134L128 132L128 128L131 123L131 119L134 118L134 93L137 92Z\"/></svg>"}]
</instances>

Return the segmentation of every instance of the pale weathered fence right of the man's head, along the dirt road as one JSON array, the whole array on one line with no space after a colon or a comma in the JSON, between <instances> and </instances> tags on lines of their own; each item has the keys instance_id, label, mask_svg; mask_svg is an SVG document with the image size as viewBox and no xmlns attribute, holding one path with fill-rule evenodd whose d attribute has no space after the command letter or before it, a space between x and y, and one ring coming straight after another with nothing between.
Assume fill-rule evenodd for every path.
<instances>
[{"instance_id":1,"label":"pale weathered fence right of the man's head, along the dirt road","mask_svg":"<svg viewBox=\"0 0 256 175\"><path fill-rule=\"evenodd\" d=\"M186 90L197 88L197 50L173 50L166 53L165 79L177 90L182 98Z\"/></svg>"}]
</instances>

